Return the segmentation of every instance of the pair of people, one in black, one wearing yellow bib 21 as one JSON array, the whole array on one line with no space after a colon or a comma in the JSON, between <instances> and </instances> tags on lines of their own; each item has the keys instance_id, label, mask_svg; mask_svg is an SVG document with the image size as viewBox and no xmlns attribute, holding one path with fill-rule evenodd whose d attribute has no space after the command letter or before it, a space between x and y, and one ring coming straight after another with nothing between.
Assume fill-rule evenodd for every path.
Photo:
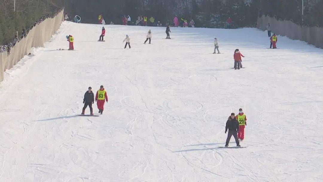
<instances>
[{"instance_id":1,"label":"pair of people, one in black, one wearing yellow bib 21","mask_svg":"<svg viewBox=\"0 0 323 182\"><path fill-rule=\"evenodd\" d=\"M245 116L245 113L242 111L242 109L239 109L239 114L235 116L234 113L231 113L231 116L229 116L226 124L225 124L225 132L228 132L228 137L226 138L225 147L229 146L229 142L231 139L231 136L234 136L235 143L237 147L240 147L240 142L242 142L245 139L245 126L247 125L247 117Z\"/></svg>"}]
</instances>

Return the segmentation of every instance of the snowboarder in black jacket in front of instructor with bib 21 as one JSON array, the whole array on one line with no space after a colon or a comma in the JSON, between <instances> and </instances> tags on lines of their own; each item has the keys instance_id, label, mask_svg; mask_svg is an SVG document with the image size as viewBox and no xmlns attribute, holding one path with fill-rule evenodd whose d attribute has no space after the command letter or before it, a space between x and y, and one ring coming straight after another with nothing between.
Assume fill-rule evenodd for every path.
<instances>
[{"instance_id":1,"label":"snowboarder in black jacket in front of instructor with bib 21","mask_svg":"<svg viewBox=\"0 0 323 182\"><path fill-rule=\"evenodd\" d=\"M234 113L231 113L231 116L229 116L228 121L225 124L225 133L227 132L228 129L229 129L229 133L228 133L228 137L226 138L225 147L229 146L229 142L232 135L234 136L237 147L240 147L238 134L237 134L239 132L239 123Z\"/></svg>"}]
</instances>

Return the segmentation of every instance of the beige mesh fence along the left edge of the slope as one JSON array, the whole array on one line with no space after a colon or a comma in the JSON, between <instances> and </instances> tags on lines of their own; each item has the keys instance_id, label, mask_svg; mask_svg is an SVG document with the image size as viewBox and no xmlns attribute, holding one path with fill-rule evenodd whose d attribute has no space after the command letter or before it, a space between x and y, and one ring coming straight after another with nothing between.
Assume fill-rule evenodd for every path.
<instances>
[{"instance_id":1,"label":"beige mesh fence along the left edge of the slope","mask_svg":"<svg viewBox=\"0 0 323 182\"><path fill-rule=\"evenodd\" d=\"M26 37L11 48L10 55L0 53L0 82L4 79L4 71L13 68L20 59L30 52L31 48L44 46L44 43L58 30L63 17L64 10L31 29Z\"/></svg>"}]
</instances>

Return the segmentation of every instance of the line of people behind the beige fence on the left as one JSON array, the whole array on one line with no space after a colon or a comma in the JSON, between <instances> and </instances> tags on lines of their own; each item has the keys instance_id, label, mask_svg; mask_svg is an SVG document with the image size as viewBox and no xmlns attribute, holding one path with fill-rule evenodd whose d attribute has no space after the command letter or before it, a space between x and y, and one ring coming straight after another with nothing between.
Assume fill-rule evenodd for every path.
<instances>
[{"instance_id":1,"label":"line of people behind the beige fence on the left","mask_svg":"<svg viewBox=\"0 0 323 182\"><path fill-rule=\"evenodd\" d=\"M61 11L62 11L61 9L57 10L57 14L60 13ZM50 14L48 14L47 16L40 17L39 20L36 21L31 27L29 27L28 30L33 29L33 27L35 27L36 25L39 25L44 20L46 20L47 18L50 18L50 17L51 17ZM0 53L7 52L7 54L9 55L10 54L10 51L11 51L11 48L12 47L15 47L16 43L18 43L22 38L24 38L26 36L27 36L27 30L26 30L26 28L23 28L22 31L21 31L21 36L20 37L18 37L18 35L16 35L13 38L12 42L8 42L6 45L1 45L0 46Z\"/></svg>"}]
</instances>

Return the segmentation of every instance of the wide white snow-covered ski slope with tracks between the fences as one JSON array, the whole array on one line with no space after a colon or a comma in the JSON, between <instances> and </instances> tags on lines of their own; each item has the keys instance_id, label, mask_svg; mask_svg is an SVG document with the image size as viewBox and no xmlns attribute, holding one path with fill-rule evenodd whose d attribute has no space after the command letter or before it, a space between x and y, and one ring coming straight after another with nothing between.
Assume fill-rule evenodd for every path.
<instances>
[{"instance_id":1,"label":"wide white snow-covered ski slope with tracks between the fences","mask_svg":"<svg viewBox=\"0 0 323 182\"><path fill-rule=\"evenodd\" d=\"M168 40L165 27L106 25L98 42L101 28L64 22L6 71L0 181L323 180L322 49L286 37L267 49L267 32L254 28L171 28ZM57 50L69 34L76 51ZM211 54L214 37L223 54ZM245 69L230 69L236 48ZM103 115L76 116L100 85ZM239 108L248 147L218 148Z\"/></svg>"}]
</instances>

